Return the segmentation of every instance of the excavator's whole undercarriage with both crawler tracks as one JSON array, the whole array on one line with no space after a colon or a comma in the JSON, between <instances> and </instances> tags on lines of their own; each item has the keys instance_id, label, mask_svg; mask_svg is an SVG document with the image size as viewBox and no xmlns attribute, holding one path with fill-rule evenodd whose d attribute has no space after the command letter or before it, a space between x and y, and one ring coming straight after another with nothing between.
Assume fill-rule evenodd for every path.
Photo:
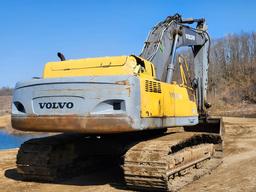
<instances>
[{"instance_id":1,"label":"excavator's whole undercarriage with both crawler tracks","mask_svg":"<svg viewBox=\"0 0 256 192\"><path fill-rule=\"evenodd\" d=\"M122 168L128 188L176 191L222 162L221 130L208 127L31 139L19 149L17 169L24 180L53 182L112 164Z\"/></svg>"}]
</instances>

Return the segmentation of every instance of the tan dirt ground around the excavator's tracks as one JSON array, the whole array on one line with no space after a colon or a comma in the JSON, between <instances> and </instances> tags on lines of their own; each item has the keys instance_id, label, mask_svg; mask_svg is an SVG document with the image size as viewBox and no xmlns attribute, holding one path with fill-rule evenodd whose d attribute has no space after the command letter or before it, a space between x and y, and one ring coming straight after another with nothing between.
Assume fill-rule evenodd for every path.
<instances>
[{"instance_id":1,"label":"tan dirt ground around the excavator's tracks","mask_svg":"<svg viewBox=\"0 0 256 192\"><path fill-rule=\"evenodd\" d=\"M181 192L256 191L256 118L224 118L225 157L223 163ZM22 182L15 170L17 149L0 151L1 192L126 191L113 167L59 183Z\"/></svg>"}]
</instances>

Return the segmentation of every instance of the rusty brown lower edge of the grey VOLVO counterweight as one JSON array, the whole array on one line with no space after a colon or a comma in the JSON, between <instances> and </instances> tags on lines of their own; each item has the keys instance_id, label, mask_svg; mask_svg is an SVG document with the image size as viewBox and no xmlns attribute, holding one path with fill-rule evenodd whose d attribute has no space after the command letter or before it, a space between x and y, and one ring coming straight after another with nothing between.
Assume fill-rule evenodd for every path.
<instances>
[{"instance_id":1,"label":"rusty brown lower edge of the grey VOLVO counterweight","mask_svg":"<svg viewBox=\"0 0 256 192\"><path fill-rule=\"evenodd\" d=\"M21 131L111 134L132 132L128 116L12 116L12 126Z\"/></svg>"}]
</instances>

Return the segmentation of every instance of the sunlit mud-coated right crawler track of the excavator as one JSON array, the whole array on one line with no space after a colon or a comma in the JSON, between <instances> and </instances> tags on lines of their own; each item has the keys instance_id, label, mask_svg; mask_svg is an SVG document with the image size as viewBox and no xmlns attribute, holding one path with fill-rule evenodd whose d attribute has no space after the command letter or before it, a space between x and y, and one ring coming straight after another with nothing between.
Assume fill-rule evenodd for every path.
<instances>
[{"instance_id":1,"label":"sunlit mud-coated right crawler track of the excavator","mask_svg":"<svg viewBox=\"0 0 256 192\"><path fill-rule=\"evenodd\" d=\"M125 154L126 184L140 190L176 191L221 163L221 142L217 134L183 132L138 143Z\"/></svg>"}]
</instances>

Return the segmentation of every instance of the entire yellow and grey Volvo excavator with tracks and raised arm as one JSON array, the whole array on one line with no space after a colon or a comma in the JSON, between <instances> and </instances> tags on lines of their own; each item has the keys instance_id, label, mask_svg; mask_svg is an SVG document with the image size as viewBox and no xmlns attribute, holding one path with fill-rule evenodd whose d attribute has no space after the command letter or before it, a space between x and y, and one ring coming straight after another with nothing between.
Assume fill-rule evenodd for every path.
<instances>
[{"instance_id":1,"label":"entire yellow and grey Volvo excavator with tracks and raised arm","mask_svg":"<svg viewBox=\"0 0 256 192\"><path fill-rule=\"evenodd\" d=\"M191 49L191 64L179 48ZM210 173L222 162L223 128L208 115L209 50L205 19L175 14L152 28L139 56L58 53L42 77L15 86L12 126L59 133L24 142L18 173L53 182L115 162L127 188L153 191Z\"/></svg>"}]
</instances>

